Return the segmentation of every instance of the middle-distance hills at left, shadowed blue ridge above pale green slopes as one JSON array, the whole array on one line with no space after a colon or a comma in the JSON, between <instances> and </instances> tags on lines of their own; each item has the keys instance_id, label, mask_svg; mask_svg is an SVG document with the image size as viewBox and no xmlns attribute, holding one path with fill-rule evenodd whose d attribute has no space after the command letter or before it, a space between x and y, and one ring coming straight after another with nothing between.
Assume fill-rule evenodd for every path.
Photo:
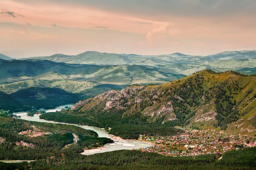
<instances>
[{"instance_id":1,"label":"middle-distance hills at left, shadowed blue ridge above pale green slopes","mask_svg":"<svg viewBox=\"0 0 256 170\"><path fill-rule=\"evenodd\" d=\"M35 86L81 92L99 84L163 84L183 76L137 65L99 66L12 60L0 63L0 90L11 93Z\"/></svg>"}]
</instances>

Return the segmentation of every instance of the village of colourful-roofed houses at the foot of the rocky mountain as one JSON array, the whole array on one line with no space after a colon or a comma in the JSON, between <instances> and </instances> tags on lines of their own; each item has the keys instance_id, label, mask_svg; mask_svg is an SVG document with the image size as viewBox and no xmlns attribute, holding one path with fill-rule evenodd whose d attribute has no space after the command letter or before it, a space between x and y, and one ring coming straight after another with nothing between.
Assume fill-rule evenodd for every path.
<instances>
[{"instance_id":1,"label":"village of colourful-roofed houses at the foot of the rocky mountain","mask_svg":"<svg viewBox=\"0 0 256 170\"><path fill-rule=\"evenodd\" d=\"M166 156L198 156L224 153L243 147L256 146L256 139L245 135L227 135L216 130L184 130L170 136L141 135L141 140L154 142L143 152L154 152Z\"/></svg>"}]
</instances>

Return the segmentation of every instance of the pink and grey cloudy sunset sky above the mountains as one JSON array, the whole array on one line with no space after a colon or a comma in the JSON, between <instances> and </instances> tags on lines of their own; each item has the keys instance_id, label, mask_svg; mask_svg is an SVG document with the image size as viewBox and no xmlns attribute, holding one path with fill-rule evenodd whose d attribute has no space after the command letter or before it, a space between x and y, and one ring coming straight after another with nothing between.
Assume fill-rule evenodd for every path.
<instances>
[{"instance_id":1,"label":"pink and grey cloudy sunset sky above the mountains","mask_svg":"<svg viewBox=\"0 0 256 170\"><path fill-rule=\"evenodd\" d=\"M256 0L0 0L0 53L255 50L255 9Z\"/></svg>"}]
</instances>

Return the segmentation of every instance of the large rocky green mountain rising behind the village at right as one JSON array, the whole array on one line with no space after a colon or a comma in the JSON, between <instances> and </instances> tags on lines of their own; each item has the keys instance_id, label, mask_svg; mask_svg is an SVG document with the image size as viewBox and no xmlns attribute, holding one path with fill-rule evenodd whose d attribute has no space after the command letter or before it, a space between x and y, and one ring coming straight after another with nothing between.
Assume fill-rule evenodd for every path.
<instances>
[{"instance_id":1,"label":"large rocky green mountain rising behind the village at right","mask_svg":"<svg viewBox=\"0 0 256 170\"><path fill-rule=\"evenodd\" d=\"M80 101L73 110L81 116L117 114L122 120L254 135L255 99L256 76L204 70L163 85L110 90Z\"/></svg>"}]
</instances>

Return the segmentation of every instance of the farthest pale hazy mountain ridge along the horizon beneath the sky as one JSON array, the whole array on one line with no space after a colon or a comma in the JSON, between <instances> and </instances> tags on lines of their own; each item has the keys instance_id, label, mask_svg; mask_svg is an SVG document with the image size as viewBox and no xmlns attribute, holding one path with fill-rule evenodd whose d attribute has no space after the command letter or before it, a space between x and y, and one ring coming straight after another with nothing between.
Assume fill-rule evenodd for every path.
<instances>
[{"instance_id":1,"label":"farthest pale hazy mountain ridge along the horizon beneath the sky","mask_svg":"<svg viewBox=\"0 0 256 170\"><path fill-rule=\"evenodd\" d=\"M184 55L173 53L170 55L136 55L111 54L88 51L79 55L53 55L31 59L44 59L72 64L94 65L138 65L158 68L159 71L170 74L191 75L203 69L212 69L218 72L240 70L244 74L256 74L256 50L221 52L215 55ZM244 71L245 69L246 71Z\"/></svg>"}]
</instances>

